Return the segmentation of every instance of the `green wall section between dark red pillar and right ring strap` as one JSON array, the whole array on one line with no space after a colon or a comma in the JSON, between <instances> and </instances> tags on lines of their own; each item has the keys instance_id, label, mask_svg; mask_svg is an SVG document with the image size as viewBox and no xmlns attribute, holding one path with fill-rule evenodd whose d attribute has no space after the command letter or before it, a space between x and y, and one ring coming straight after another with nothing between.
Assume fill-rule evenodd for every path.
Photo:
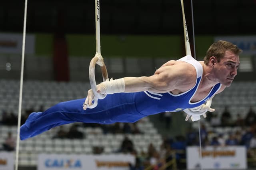
<instances>
[{"instance_id":1,"label":"green wall section between dark red pillar and right ring strap","mask_svg":"<svg viewBox=\"0 0 256 170\"><path fill-rule=\"evenodd\" d=\"M94 35L67 35L70 56L93 57ZM103 57L177 57L181 56L180 36L107 36L102 35Z\"/></svg>"}]
</instances>

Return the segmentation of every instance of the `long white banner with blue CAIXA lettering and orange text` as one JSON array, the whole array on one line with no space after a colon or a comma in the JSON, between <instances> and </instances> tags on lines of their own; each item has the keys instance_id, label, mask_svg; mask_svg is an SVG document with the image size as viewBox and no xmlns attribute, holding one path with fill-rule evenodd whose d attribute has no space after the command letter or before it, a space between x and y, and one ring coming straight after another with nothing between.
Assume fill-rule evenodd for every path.
<instances>
[{"instance_id":1,"label":"long white banner with blue CAIXA lettering and orange text","mask_svg":"<svg viewBox=\"0 0 256 170\"><path fill-rule=\"evenodd\" d=\"M130 154L38 155L38 170L129 170L129 164L135 164Z\"/></svg>"}]
</instances>

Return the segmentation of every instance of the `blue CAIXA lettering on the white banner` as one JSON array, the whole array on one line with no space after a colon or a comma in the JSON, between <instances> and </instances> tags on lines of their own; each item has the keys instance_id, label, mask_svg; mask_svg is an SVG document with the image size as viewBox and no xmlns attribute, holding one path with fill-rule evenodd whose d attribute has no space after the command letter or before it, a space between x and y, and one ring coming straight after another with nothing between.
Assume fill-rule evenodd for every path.
<instances>
[{"instance_id":1,"label":"blue CAIXA lettering on the white banner","mask_svg":"<svg viewBox=\"0 0 256 170\"><path fill-rule=\"evenodd\" d=\"M79 159L46 159L44 164L48 168L82 168Z\"/></svg>"}]
</instances>

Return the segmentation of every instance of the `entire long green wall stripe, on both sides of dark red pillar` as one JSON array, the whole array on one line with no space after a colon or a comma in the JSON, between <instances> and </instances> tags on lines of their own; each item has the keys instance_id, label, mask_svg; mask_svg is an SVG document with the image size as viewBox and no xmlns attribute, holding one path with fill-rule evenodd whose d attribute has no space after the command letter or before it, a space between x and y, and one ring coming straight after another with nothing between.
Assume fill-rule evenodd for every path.
<instances>
[{"instance_id":1,"label":"entire long green wall stripe, on both sides of dark red pillar","mask_svg":"<svg viewBox=\"0 0 256 170\"><path fill-rule=\"evenodd\" d=\"M52 56L53 35L36 34L36 55ZM95 35L66 35L70 57L93 57L96 52ZM182 36L116 36L101 35L103 57L182 57ZM196 36L196 56L204 58L213 36Z\"/></svg>"}]
</instances>

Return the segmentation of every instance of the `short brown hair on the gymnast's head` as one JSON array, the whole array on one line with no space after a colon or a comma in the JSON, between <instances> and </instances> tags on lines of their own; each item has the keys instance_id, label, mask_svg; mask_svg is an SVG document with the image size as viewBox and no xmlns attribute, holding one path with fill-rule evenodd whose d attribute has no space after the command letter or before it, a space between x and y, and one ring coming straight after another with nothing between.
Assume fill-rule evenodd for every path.
<instances>
[{"instance_id":1,"label":"short brown hair on the gymnast's head","mask_svg":"<svg viewBox=\"0 0 256 170\"><path fill-rule=\"evenodd\" d=\"M210 57L212 56L216 57L217 61L219 62L220 59L224 57L226 51L231 51L235 55L239 55L242 52L242 49L238 48L231 42L219 40L213 43L207 50L204 57L204 63L208 65L208 63L210 62Z\"/></svg>"}]
</instances>

